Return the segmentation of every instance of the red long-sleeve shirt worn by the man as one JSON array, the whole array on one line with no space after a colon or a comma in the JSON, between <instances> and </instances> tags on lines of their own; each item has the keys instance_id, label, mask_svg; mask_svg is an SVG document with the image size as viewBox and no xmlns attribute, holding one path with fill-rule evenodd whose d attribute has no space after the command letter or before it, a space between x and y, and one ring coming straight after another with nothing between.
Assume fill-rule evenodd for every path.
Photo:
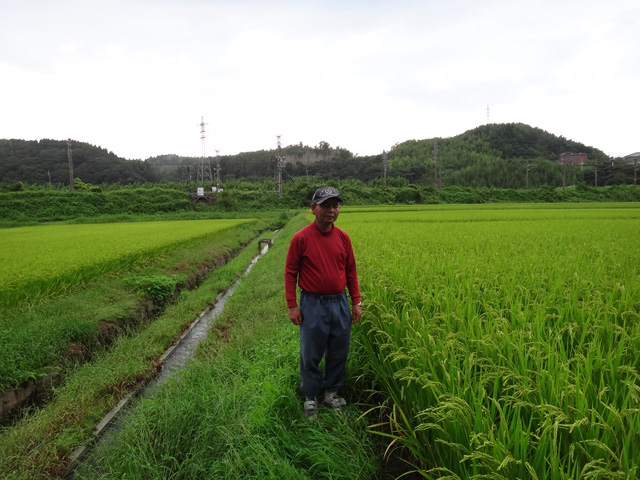
<instances>
[{"instance_id":1,"label":"red long-sleeve shirt worn by the man","mask_svg":"<svg viewBox=\"0 0 640 480\"><path fill-rule=\"evenodd\" d=\"M296 285L318 295L337 295L347 287L351 302L360 302L349 235L335 225L329 232L323 232L316 222L297 232L289 244L284 285L289 308L298 305Z\"/></svg>"}]
</instances>

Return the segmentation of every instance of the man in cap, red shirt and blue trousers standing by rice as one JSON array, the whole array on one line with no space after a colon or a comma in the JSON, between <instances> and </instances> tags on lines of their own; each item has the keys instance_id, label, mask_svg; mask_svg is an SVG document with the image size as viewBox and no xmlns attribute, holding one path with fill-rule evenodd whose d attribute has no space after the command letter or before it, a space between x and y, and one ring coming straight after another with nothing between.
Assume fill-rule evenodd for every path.
<instances>
[{"instance_id":1,"label":"man in cap, red shirt and blue trousers standing by rice","mask_svg":"<svg viewBox=\"0 0 640 480\"><path fill-rule=\"evenodd\" d=\"M340 411L346 405L338 389L344 383L351 324L362 316L351 239L334 225L340 202L335 188L316 190L311 203L315 221L293 236L285 265L289 319L300 326L300 390L305 396L304 413L310 419L316 418L316 397L322 389L323 406ZM296 285L300 286L300 307ZM323 356L324 374L320 369Z\"/></svg>"}]
</instances>

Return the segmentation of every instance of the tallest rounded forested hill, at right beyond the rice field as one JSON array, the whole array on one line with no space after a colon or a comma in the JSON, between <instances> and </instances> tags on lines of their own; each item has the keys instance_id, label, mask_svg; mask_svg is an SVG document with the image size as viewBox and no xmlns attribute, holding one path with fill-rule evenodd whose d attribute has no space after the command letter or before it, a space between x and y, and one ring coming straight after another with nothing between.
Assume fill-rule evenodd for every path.
<instances>
[{"instance_id":1,"label":"tallest rounded forested hill, at right beyond the rice field","mask_svg":"<svg viewBox=\"0 0 640 480\"><path fill-rule=\"evenodd\" d=\"M561 153L586 153L564 168ZM526 188L577 182L632 183L630 165L604 152L522 123L488 124L450 138L408 140L389 152L391 171L416 184Z\"/></svg>"}]
</instances>

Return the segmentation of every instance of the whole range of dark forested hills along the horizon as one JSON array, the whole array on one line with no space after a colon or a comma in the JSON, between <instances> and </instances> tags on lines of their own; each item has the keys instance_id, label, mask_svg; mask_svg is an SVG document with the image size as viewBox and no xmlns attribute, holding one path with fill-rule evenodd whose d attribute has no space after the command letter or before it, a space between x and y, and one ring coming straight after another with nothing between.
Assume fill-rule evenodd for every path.
<instances>
[{"instance_id":1,"label":"whole range of dark forested hills along the horizon","mask_svg":"<svg viewBox=\"0 0 640 480\"><path fill-rule=\"evenodd\" d=\"M564 168L558 155L586 153L588 162ZM284 156L284 180L315 177L321 181L383 176L383 154L354 156L327 142L315 147L289 145L281 151L261 150L210 157L222 181L273 179L276 154ZM162 155L145 161L125 160L104 148L72 142L74 177L91 184L196 181L198 158ZM613 161L601 150L521 123L488 124L441 139L407 140L390 148L388 177L422 185L527 188L633 183L633 166ZM67 142L58 140L0 140L0 186L68 184Z\"/></svg>"}]
</instances>

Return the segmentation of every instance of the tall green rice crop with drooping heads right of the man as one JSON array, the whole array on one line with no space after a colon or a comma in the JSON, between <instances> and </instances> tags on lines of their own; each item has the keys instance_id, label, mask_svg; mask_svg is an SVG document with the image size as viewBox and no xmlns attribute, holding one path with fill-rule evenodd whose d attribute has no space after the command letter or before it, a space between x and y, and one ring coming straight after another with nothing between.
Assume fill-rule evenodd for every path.
<instances>
[{"instance_id":1,"label":"tall green rice crop with drooping heads right of the man","mask_svg":"<svg viewBox=\"0 0 640 480\"><path fill-rule=\"evenodd\" d=\"M379 433L426 478L636 478L639 212L343 214Z\"/></svg>"}]
</instances>

